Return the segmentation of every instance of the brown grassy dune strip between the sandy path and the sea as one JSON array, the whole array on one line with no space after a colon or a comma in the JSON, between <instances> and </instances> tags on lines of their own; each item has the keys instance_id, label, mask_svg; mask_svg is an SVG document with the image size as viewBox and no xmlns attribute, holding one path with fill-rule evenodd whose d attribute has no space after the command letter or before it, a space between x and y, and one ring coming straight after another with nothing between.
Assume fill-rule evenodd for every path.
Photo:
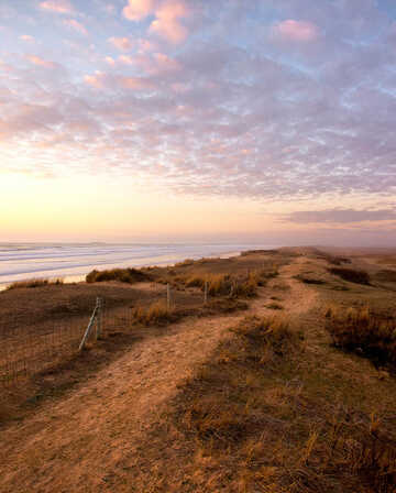
<instances>
[{"instance_id":1,"label":"brown grassy dune strip between the sandy path and the sea","mask_svg":"<svg viewBox=\"0 0 396 493\"><path fill-rule=\"evenodd\" d=\"M245 310L246 303L239 298L255 296L263 278L273 276L276 265L286 261L263 260L266 262L266 258L258 255L248 263L243 260L240 265L239 258L202 259L183 262L179 267L92 271L86 284L57 282L57 289L52 289L47 280L19 283L18 291L0 294L0 382L10 387L21 386L40 372L68 361L77 351L98 296L106 305L105 340L109 333L129 340L130 333L141 326L160 327L185 317ZM226 265L233 267L231 274L224 272ZM257 266L260 270L252 269ZM167 309L164 284L169 277L177 277L178 282L169 283L172 307ZM207 304L204 304L205 283L209 287ZM31 286L35 287L34 293Z\"/></svg>"}]
</instances>

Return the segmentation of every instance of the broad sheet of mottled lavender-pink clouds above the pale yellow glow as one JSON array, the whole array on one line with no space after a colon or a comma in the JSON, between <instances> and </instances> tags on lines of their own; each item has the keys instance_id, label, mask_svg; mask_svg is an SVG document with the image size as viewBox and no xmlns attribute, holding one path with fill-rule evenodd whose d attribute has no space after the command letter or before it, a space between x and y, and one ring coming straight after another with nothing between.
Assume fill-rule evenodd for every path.
<instances>
[{"instance_id":1,"label":"broad sheet of mottled lavender-pink clouds above the pale yellow glow","mask_svg":"<svg viewBox=\"0 0 396 493\"><path fill-rule=\"evenodd\" d=\"M8 169L277 201L295 228L394 220L396 30L375 2L37 1L22 22L4 1Z\"/></svg>"}]
</instances>

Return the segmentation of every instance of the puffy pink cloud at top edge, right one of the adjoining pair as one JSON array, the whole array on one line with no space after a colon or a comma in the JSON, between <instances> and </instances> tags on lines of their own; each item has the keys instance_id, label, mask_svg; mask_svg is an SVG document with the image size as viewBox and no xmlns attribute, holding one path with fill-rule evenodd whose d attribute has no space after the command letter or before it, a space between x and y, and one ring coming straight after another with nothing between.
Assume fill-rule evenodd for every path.
<instances>
[{"instance_id":1,"label":"puffy pink cloud at top edge, right one of the adjoining pair","mask_svg":"<svg viewBox=\"0 0 396 493\"><path fill-rule=\"evenodd\" d=\"M156 19L152 22L150 32L172 43L180 43L188 35L188 30L180 23L180 19L189 15L190 11L183 0L166 1L156 10Z\"/></svg>"}]
</instances>

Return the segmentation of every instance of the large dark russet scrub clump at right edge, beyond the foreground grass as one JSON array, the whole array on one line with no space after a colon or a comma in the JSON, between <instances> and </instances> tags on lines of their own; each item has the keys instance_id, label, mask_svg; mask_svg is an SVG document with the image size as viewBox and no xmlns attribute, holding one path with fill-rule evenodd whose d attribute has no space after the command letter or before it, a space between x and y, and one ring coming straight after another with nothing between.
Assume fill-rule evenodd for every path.
<instances>
[{"instance_id":1,"label":"large dark russet scrub clump at right edge, beyond the foreground grass","mask_svg":"<svg viewBox=\"0 0 396 493\"><path fill-rule=\"evenodd\" d=\"M374 314L370 308L327 310L327 328L336 347L365 355L378 366L396 370L396 320Z\"/></svg>"}]
</instances>

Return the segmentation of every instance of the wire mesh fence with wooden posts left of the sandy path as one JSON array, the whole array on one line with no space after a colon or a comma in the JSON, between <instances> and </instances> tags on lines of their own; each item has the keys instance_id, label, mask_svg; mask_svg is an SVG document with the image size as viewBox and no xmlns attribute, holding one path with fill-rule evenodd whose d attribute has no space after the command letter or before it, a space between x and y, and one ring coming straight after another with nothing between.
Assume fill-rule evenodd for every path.
<instances>
[{"instance_id":1,"label":"wire mesh fence with wooden posts left of the sandy path","mask_svg":"<svg viewBox=\"0 0 396 493\"><path fill-rule=\"evenodd\" d=\"M14 386L28 377L51 369L67 357L78 353L114 331L133 330L136 307L148 308L163 300L169 309L199 308L207 294L198 289L176 291L169 286L151 286L151 296L119 307L108 307L98 298L92 313L86 316L52 318L33 324L26 314L0 320L0 384ZM72 311L70 306L70 311Z\"/></svg>"}]
</instances>

